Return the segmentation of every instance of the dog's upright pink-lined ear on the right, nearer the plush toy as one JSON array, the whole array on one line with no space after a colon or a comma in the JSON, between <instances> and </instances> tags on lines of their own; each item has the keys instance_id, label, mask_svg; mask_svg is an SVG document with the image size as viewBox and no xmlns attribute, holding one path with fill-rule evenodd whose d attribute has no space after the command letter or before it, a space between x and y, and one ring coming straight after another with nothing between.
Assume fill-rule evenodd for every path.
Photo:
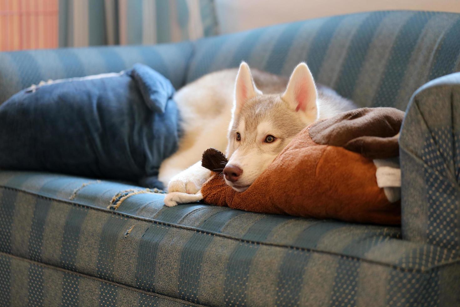
<instances>
[{"instance_id":1,"label":"dog's upright pink-lined ear on the right, nearer the plush toy","mask_svg":"<svg viewBox=\"0 0 460 307\"><path fill-rule=\"evenodd\" d=\"M305 120L314 122L318 116L316 86L307 64L300 63L289 78L282 99L296 112L304 112Z\"/></svg>"}]
</instances>

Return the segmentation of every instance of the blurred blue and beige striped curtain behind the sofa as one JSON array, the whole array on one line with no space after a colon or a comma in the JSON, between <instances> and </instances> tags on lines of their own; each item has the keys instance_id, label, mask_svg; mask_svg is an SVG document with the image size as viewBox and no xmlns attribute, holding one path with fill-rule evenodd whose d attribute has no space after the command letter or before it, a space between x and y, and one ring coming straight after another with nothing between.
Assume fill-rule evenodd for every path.
<instances>
[{"instance_id":1,"label":"blurred blue and beige striped curtain behind the sofa","mask_svg":"<svg viewBox=\"0 0 460 307\"><path fill-rule=\"evenodd\" d=\"M59 46L155 44L215 35L213 0L59 0Z\"/></svg>"}]
</instances>

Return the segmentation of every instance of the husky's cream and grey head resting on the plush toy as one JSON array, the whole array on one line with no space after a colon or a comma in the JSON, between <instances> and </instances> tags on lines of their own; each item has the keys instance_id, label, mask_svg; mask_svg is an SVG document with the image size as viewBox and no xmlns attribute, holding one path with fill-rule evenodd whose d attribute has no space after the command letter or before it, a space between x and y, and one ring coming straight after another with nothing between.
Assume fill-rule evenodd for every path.
<instances>
[{"instance_id":1,"label":"husky's cream and grey head resting on the plush toy","mask_svg":"<svg viewBox=\"0 0 460 307\"><path fill-rule=\"evenodd\" d=\"M284 93L263 94L243 62L228 129L227 185L245 191L291 139L316 120L316 97L315 82L305 63L294 69Z\"/></svg>"}]
</instances>

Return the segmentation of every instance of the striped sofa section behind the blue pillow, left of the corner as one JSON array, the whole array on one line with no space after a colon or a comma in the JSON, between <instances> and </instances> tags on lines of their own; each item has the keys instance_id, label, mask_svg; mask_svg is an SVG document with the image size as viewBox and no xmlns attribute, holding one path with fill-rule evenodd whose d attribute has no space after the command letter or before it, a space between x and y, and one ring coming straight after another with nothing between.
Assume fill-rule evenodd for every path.
<instances>
[{"instance_id":1,"label":"striped sofa section behind the blue pillow, left of the corner","mask_svg":"<svg viewBox=\"0 0 460 307\"><path fill-rule=\"evenodd\" d=\"M149 65L179 88L192 52L190 42L0 52L0 104L42 80L119 72L135 63Z\"/></svg>"}]
</instances>

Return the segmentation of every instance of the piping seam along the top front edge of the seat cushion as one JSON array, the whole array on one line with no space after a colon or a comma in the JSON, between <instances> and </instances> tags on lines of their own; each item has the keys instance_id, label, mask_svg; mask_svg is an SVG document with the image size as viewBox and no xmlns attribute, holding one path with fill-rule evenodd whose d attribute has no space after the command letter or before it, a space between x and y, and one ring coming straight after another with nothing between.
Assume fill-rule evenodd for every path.
<instances>
[{"instance_id":1,"label":"piping seam along the top front edge of the seat cushion","mask_svg":"<svg viewBox=\"0 0 460 307\"><path fill-rule=\"evenodd\" d=\"M169 226L169 227L180 228L180 229L189 230L189 231L193 231L193 232L199 232L199 233L203 233L205 235L207 234L207 235L213 235L213 236L216 236L216 237L224 237L224 238L228 238L228 239L231 239L231 240L240 241L240 242L243 242L243 243L249 243L249 244L255 244L255 245L259 244L259 245L288 248L288 249L300 250L300 251L306 251L306 252L314 252L314 253L319 253L319 254L334 255L334 256L347 258L347 259L353 260L353 261L363 261L363 262L377 264L377 265L381 265L381 266L387 266L387 267L391 267L393 269L396 269L396 270L399 270L399 271L402 271L402 272L426 273L426 272L430 272L431 270L436 269L438 267L442 267L442 266L449 265L449 264L454 264L454 263L457 263L457 262L460 263L460 258L456 258L456 259L451 260L451 261L440 262L439 264L437 264L435 266L429 266L429 267L427 267L425 269L405 268L405 267L402 267L402 266L393 265L393 264L389 264L389 263L385 263L385 262L381 262L381 261L374 261L374 260L361 258L361 257L357 257L357 256L343 255L343 254L340 254L338 252L331 252L331 251L327 251L327 250L311 249L311 248L305 248L305 247L296 247L296 246L280 244L280 243L270 243L270 242L261 242L261 241L253 241L253 240L244 240L242 238L234 237L232 235L228 235L228 234L225 234L225 233L212 232L212 231L207 231L207 230L196 228L196 227L178 225L178 224L163 222L163 221L159 221L159 220L149 219L149 218L145 218L145 217L141 217L141 216L126 214L126 213L123 213L123 212L117 212L117 211L114 211L114 210L104 209L104 208L100 208L100 207L93 207L91 205L82 204L82 203L76 203L76 202L72 202L72 201L62 199L62 198L59 198L59 197L43 196L43 195L37 194L36 192L28 191L28 190L25 190L25 189L20 190L20 189L17 189L17 188L12 188L12 187L8 187L8 186L4 186L4 185L0 185L0 188L6 189L6 190L11 190L11 191L23 192L23 193L34 195L36 197L43 198L43 199L50 200L50 201L57 201L57 202L66 203L66 204L70 204L70 205L75 205L75 206L79 206L79 207L83 207L83 208L87 208L87 209L103 211L103 212L106 212L106 213L109 213L109 214L116 214L116 215L120 215L120 216L122 216L124 218L131 218L131 219L134 219L134 220L143 220L143 221L147 221L147 222L151 222L151 223L155 223L155 224L159 224L159 225L163 225L163 226ZM408 241L408 242L410 242L410 241Z\"/></svg>"}]
</instances>

